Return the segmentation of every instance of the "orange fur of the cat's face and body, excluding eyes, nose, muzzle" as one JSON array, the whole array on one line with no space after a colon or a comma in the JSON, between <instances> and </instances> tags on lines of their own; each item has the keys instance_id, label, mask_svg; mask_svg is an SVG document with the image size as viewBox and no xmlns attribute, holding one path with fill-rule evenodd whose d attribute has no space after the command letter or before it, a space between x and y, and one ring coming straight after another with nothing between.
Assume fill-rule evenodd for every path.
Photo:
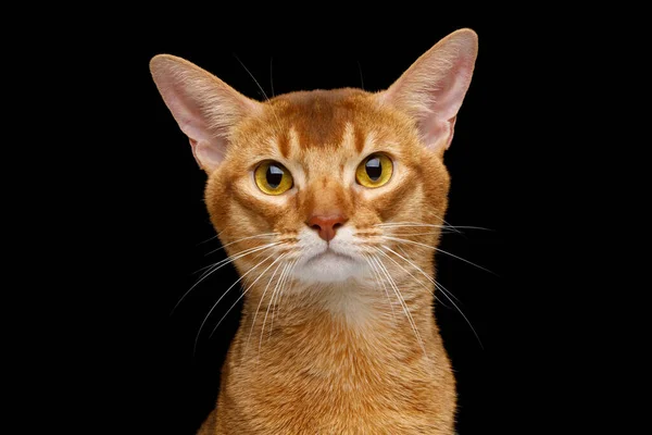
<instances>
[{"instance_id":1,"label":"orange fur of the cat's face and body, excluding eyes, nose, muzzle","mask_svg":"<svg viewBox=\"0 0 652 435\"><path fill-rule=\"evenodd\" d=\"M152 71L158 67L152 61ZM228 98L244 97L231 92ZM205 189L220 239L230 256L269 241L283 244L235 262L240 275L253 268L259 272L243 279L241 324L223 368L216 409L200 435L454 432L455 381L432 315L435 288L416 269L399 257L389 256L403 269L379 256L418 337L389 284L383 285L383 281L372 274L324 284L289 275L280 283L283 293L273 291L283 270L273 262L281 254L300 254L297 239L310 216L334 211L347 216L346 226L365 246L403 248L434 276L431 249L381 236L402 234L436 247L436 227L424 235L423 228L376 225L443 224L446 147L424 146L414 113L387 99L387 94L359 89L293 92L256 103L249 115L220 126L228 129L228 146L209 171ZM450 123L452 135L454 116ZM448 146L450 137L441 142ZM394 161L392 179L378 189L356 185L350 174L378 151ZM267 159L283 163L294 178L294 187L281 196L262 194L252 181L255 165ZM273 232L277 235L251 238Z\"/></svg>"}]
</instances>

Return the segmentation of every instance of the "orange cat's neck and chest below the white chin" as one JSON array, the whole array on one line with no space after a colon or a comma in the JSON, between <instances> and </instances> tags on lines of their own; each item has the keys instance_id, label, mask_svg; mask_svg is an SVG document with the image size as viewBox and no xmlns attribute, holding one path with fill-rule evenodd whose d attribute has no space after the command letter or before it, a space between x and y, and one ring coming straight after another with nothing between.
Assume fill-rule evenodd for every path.
<instances>
[{"instance_id":1,"label":"orange cat's neck and chest below the white chin","mask_svg":"<svg viewBox=\"0 0 652 435\"><path fill-rule=\"evenodd\" d=\"M263 425L268 433L449 433L434 431L452 426L440 417L452 415L455 396L432 295L401 288L411 294L409 322L400 303L392 312L383 288L372 290L303 288L280 298L273 321L273 306L256 310L255 298L246 302L217 402L228 426L237 433L261 433Z\"/></svg>"}]
</instances>

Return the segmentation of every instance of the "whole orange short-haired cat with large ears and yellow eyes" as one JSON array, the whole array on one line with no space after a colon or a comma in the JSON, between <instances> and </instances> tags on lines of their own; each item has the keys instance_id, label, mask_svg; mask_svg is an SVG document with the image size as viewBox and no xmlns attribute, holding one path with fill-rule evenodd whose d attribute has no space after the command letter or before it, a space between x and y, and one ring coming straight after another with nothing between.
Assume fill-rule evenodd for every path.
<instances>
[{"instance_id":1,"label":"whole orange short-haired cat with large ears and yellow eyes","mask_svg":"<svg viewBox=\"0 0 652 435\"><path fill-rule=\"evenodd\" d=\"M243 290L198 434L454 433L432 250L446 227L443 154L476 55L464 28L387 90L265 102L184 59L151 60Z\"/></svg>"}]
</instances>

